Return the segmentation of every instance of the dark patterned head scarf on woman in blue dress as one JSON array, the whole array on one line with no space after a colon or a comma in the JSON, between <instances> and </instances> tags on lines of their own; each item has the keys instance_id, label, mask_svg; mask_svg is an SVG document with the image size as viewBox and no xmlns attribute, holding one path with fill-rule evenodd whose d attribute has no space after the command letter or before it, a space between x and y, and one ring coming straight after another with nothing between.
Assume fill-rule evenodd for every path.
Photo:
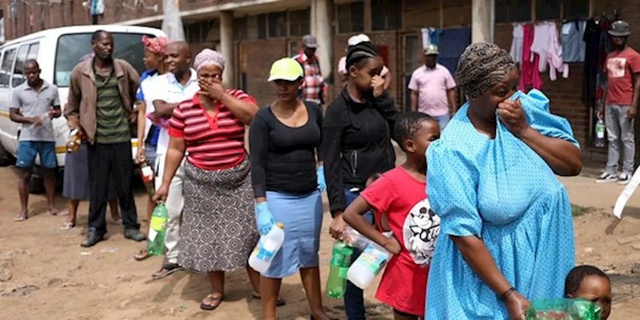
<instances>
[{"instance_id":1,"label":"dark patterned head scarf on woman in blue dress","mask_svg":"<svg viewBox=\"0 0 640 320\"><path fill-rule=\"evenodd\" d=\"M458 61L456 80L469 99L482 95L502 80L516 64L509 52L495 44L470 44Z\"/></svg>"}]
</instances>

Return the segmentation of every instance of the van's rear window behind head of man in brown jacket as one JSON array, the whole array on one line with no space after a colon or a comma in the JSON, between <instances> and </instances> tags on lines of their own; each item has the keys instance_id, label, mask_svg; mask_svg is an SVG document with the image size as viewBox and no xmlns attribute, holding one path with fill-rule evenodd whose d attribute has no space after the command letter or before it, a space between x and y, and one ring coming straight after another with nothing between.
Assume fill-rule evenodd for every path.
<instances>
[{"instance_id":1,"label":"van's rear window behind head of man in brown jacket","mask_svg":"<svg viewBox=\"0 0 640 320\"><path fill-rule=\"evenodd\" d=\"M145 67L142 58L145 48L141 33L111 33L113 35L113 58L125 60L141 74ZM71 71L84 56L93 52L92 33L74 33L58 38L56 47L55 84L59 87L69 85ZM149 35L152 36L152 35Z\"/></svg>"}]
</instances>

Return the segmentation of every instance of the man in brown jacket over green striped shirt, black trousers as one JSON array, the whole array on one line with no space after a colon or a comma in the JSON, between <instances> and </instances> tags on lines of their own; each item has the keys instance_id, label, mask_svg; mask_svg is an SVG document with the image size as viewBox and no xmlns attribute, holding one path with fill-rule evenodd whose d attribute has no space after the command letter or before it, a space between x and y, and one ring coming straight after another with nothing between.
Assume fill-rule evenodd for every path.
<instances>
[{"instance_id":1,"label":"man in brown jacket over green striped shirt, black trousers","mask_svg":"<svg viewBox=\"0 0 640 320\"><path fill-rule=\"evenodd\" d=\"M131 178L131 129L136 113L132 106L140 82L138 72L127 61L113 59L113 36L93 33L94 56L76 65L71 73L65 116L71 129L86 133L89 152L89 232L81 245L93 246L104 239L109 182L118 191L124 236L134 241L146 237L140 232Z\"/></svg>"}]
</instances>

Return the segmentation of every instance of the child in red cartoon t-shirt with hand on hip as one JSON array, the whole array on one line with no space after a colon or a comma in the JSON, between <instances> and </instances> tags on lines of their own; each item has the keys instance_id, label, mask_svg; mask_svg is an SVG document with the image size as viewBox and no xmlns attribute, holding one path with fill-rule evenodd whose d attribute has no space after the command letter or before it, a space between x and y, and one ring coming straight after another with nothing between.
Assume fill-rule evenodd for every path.
<instances>
[{"instance_id":1,"label":"child in red cartoon t-shirt with hand on hip","mask_svg":"<svg viewBox=\"0 0 640 320\"><path fill-rule=\"evenodd\" d=\"M398 116L393 134L406 162L364 189L344 211L344 221L394 254L376 299L394 308L394 319L416 320L424 317L429 260L440 232L440 218L429 210L425 194L425 152L440 128L431 116L412 111ZM393 237L367 223L362 214L370 209L385 216Z\"/></svg>"}]
</instances>

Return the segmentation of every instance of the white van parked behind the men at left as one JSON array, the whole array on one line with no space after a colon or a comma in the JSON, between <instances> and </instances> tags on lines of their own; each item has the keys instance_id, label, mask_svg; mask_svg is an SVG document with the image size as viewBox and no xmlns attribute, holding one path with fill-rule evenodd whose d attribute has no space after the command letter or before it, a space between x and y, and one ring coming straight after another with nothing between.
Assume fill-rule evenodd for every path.
<instances>
[{"instance_id":1,"label":"white van parked behind the men at left","mask_svg":"<svg viewBox=\"0 0 640 320\"><path fill-rule=\"evenodd\" d=\"M143 35L166 36L155 28L117 25L72 26L47 29L22 36L0 46L0 165L14 164L17 153L20 124L9 118L9 102L13 88L24 83L24 61L35 59L42 72L40 77L58 86L61 108L67 103L70 74L76 64L90 52L91 36L97 30L106 30L113 34L115 48L113 58L123 59L141 74L144 70L142 58ZM69 130L64 116L52 121L56 134L56 156L58 166L65 165L65 145ZM134 135L135 136L135 135ZM132 158L136 155L137 139L132 139ZM36 164L39 164L36 159ZM37 167L34 179L39 179ZM32 179L32 182L33 179ZM35 183L31 185L35 186ZM31 187L33 189L35 187Z\"/></svg>"}]
</instances>

